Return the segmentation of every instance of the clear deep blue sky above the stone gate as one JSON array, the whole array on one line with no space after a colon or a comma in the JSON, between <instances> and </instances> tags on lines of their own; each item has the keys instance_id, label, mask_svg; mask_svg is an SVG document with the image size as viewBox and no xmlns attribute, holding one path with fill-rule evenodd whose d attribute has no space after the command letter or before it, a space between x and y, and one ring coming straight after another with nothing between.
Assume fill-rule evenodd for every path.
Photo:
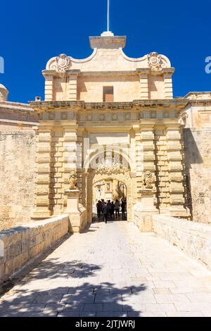
<instances>
[{"instance_id":1,"label":"clear deep blue sky above the stone gate","mask_svg":"<svg viewBox=\"0 0 211 331\"><path fill-rule=\"evenodd\" d=\"M210 91L211 1L110 0L110 30L127 35L125 54L140 57L158 51L176 68L174 96ZM9 100L27 102L44 96L41 70L60 53L75 58L91 54L89 36L106 30L107 0L1 1L0 83Z\"/></svg>"}]
</instances>

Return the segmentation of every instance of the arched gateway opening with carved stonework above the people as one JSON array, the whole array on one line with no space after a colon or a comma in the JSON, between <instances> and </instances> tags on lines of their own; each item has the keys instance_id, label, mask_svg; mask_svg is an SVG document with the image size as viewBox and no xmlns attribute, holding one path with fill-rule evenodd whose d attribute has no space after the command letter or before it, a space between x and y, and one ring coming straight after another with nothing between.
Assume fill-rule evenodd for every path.
<instances>
[{"instance_id":1,"label":"arched gateway opening with carved stonework above the people","mask_svg":"<svg viewBox=\"0 0 211 331\"><path fill-rule=\"evenodd\" d=\"M135 190L132 190L132 177L129 159L121 152L104 151L100 154L93 153L89 159L89 167L86 170L86 206L88 221L94 218L94 205L96 199L120 199L126 198L127 203L127 220L132 221L132 205L135 199ZM116 183L117 192L111 192L111 183ZM102 188L103 185L110 184L110 187ZM113 186L112 186L113 188ZM95 192L94 192L95 190ZM96 193L98 190L98 193ZM106 190L108 192L106 192ZM110 194L110 195L109 195ZM115 195L116 194L116 195ZM104 196L104 197L103 197ZM121 208L120 208L121 211Z\"/></svg>"}]
</instances>

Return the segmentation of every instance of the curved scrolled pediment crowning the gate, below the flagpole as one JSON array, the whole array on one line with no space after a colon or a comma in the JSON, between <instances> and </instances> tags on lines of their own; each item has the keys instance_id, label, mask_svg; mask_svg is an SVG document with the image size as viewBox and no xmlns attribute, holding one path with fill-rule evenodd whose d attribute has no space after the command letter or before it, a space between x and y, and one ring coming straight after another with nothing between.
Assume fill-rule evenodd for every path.
<instances>
[{"instance_id":1,"label":"curved scrolled pediment crowning the gate, below the flagpole","mask_svg":"<svg viewBox=\"0 0 211 331\"><path fill-rule=\"evenodd\" d=\"M114 35L101 35L100 37L89 37L90 46L93 53L87 58L77 59L59 54L51 58L46 64L46 70L56 70L63 72L67 70L84 71L133 71L139 68L149 68L152 70L162 70L171 68L170 60L153 51L140 58L130 58L122 49L125 45L126 37Z\"/></svg>"}]
</instances>

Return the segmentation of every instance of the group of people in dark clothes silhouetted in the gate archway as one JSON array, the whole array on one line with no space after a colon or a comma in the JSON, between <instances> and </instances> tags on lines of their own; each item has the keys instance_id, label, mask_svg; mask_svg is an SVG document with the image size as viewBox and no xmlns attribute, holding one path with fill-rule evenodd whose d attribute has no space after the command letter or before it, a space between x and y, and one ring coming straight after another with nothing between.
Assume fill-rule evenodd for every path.
<instances>
[{"instance_id":1,"label":"group of people in dark clothes silhouetted in the gate archway","mask_svg":"<svg viewBox=\"0 0 211 331\"><path fill-rule=\"evenodd\" d=\"M113 201L110 202L104 201L104 199L98 200L96 204L96 209L98 213L98 220L103 220L107 223L108 218L113 219L114 217L117 219L120 218L120 208L122 213L122 220L125 219L125 211L126 211L126 200L121 200L121 202L116 199L115 203Z\"/></svg>"}]
</instances>

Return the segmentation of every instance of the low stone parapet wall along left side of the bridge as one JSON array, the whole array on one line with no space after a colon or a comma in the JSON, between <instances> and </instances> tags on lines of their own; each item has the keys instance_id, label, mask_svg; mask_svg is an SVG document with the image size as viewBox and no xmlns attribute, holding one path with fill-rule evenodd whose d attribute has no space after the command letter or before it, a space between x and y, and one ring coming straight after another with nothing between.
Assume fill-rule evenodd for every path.
<instances>
[{"instance_id":1,"label":"low stone parapet wall along left side of the bridge","mask_svg":"<svg viewBox=\"0 0 211 331\"><path fill-rule=\"evenodd\" d=\"M0 232L0 283L68 233L68 215Z\"/></svg>"}]
</instances>

